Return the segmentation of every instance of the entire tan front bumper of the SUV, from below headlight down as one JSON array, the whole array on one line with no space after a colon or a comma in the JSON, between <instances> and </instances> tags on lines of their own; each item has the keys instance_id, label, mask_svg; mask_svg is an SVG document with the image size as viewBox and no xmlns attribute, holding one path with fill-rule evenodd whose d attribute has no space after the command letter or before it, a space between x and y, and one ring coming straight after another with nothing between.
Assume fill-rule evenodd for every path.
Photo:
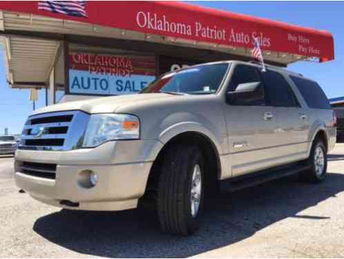
<instances>
[{"instance_id":1,"label":"entire tan front bumper of the SUV, from below headlight down","mask_svg":"<svg viewBox=\"0 0 344 259\"><path fill-rule=\"evenodd\" d=\"M137 207L157 152L155 140L108 142L97 148L75 151L26 151L15 155L15 182L32 198L66 209L119 211ZM57 164L55 179L21 172L22 162ZM92 188L78 184L79 173L94 171L98 182ZM63 201L74 202L70 207ZM62 202L62 204L61 204Z\"/></svg>"}]
</instances>

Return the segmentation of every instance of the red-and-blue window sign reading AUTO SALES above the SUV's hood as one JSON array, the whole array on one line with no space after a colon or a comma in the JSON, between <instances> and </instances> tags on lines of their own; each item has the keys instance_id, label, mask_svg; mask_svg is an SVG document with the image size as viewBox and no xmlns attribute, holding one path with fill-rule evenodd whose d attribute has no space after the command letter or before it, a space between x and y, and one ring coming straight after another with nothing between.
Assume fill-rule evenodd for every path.
<instances>
[{"instance_id":1,"label":"red-and-blue window sign reading AUTO SALES above the SUV's hood","mask_svg":"<svg viewBox=\"0 0 344 259\"><path fill-rule=\"evenodd\" d=\"M69 92L83 95L138 93L155 79L155 57L69 54Z\"/></svg>"}]
</instances>

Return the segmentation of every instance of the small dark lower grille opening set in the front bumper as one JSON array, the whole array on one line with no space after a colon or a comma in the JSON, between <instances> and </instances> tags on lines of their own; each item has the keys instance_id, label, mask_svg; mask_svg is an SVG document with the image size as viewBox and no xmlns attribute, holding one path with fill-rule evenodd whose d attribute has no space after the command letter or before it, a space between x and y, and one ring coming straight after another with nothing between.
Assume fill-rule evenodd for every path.
<instances>
[{"instance_id":1,"label":"small dark lower grille opening set in the front bumper","mask_svg":"<svg viewBox=\"0 0 344 259\"><path fill-rule=\"evenodd\" d=\"M31 175L38 178L53 179L56 178L56 164L43 164L33 162L16 162L17 171L25 175Z\"/></svg>"}]
</instances>

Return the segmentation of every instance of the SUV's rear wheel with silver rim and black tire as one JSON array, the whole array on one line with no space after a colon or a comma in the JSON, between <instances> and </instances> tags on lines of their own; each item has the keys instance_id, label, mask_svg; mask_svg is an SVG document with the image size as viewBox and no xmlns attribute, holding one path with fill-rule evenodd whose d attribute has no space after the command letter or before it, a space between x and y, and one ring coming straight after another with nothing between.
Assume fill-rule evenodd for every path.
<instances>
[{"instance_id":1,"label":"SUV's rear wheel with silver rim and black tire","mask_svg":"<svg viewBox=\"0 0 344 259\"><path fill-rule=\"evenodd\" d=\"M310 169L300 173L301 180L307 182L323 182L327 175L327 153L323 140L314 140L309 155Z\"/></svg>"}]
</instances>

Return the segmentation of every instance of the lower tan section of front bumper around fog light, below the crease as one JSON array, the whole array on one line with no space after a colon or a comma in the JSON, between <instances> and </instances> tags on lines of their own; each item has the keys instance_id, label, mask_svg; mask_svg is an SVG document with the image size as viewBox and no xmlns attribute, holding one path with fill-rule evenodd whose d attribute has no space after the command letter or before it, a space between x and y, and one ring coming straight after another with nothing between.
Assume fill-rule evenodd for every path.
<instances>
[{"instance_id":1,"label":"lower tan section of front bumper around fog light, below the crease","mask_svg":"<svg viewBox=\"0 0 344 259\"><path fill-rule=\"evenodd\" d=\"M32 198L58 207L105 211L131 209L137 206L138 198L144 194L151 164L57 166L55 180L17 172L15 181ZM97 173L97 185L88 189L78 184L78 174L83 170ZM77 202L79 206L61 205L63 200Z\"/></svg>"}]
</instances>

